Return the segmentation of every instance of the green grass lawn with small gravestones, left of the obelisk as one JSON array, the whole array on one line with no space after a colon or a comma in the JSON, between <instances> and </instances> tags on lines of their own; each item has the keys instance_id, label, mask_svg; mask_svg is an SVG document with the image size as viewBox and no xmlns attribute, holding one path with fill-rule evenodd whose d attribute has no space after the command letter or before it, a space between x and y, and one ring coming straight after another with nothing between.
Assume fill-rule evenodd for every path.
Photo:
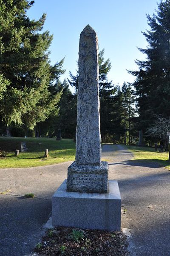
<instances>
[{"instance_id":1,"label":"green grass lawn with small gravestones, left of the obelisk","mask_svg":"<svg viewBox=\"0 0 170 256\"><path fill-rule=\"evenodd\" d=\"M20 142L26 142L28 151L14 157ZM7 151L7 157L0 159L0 168L52 165L74 160L76 154L73 139L0 137L0 149ZM48 159L43 158L45 149L49 151Z\"/></svg>"}]
</instances>

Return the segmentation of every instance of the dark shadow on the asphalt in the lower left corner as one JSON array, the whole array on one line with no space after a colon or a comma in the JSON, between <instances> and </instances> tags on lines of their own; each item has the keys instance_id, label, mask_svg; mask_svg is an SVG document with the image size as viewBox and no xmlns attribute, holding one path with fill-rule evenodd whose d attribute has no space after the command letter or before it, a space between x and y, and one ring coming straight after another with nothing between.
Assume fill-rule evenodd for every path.
<instances>
[{"instance_id":1,"label":"dark shadow on the asphalt in the lower left corner","mask_svg":"<svg viewBox=\"0 0 170 256\"><path fill-rule=\"evenodd\" d=\"M0 256L31 253L51 213L51 200L0 195Z\"/></svg>"}]
</instances>

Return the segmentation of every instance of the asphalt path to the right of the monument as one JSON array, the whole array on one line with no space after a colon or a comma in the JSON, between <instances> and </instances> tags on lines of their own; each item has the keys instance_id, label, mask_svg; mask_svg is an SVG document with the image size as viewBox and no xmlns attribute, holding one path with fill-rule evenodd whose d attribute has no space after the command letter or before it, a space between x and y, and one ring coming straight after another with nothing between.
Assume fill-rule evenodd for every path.
<instances>
[{"instance_id":1,"label":"asphalt path to the right of the monument","mask_svg":"<svg viewBox=\"0 0 170 256\"><path fill-rule=\"evenodd\" d=\"M121 145L102 150L109 156L109 179L119 183L126 212L122 228L132 233L131 255L170 256L170 171L131 160L133 155Z\"/></svg>"}]
</instances>

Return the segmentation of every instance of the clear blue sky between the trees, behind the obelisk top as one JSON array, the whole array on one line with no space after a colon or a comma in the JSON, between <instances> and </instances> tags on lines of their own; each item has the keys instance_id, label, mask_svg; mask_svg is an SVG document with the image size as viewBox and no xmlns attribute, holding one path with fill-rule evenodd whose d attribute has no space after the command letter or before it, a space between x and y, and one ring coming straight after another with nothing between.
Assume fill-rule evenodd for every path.
<instances>
[{"instance_id":1,"label":"clear blue sky between the trees, behind the obelisk top","mask_svg":"<svg viewBox=\"0 0 170 256\"><path fill-rule=\"evenodd\" d=\"M66 72L61 80L76 74L79 34L89 24L98 35L99 49L111 61L108 79L122 85L133 82L126 69L136 70L135 59L144 59L136 48L147 43L141 31L148 28L146 14L152 15L159 0L35 0L28 10L31 19L47 14L44 30L54 35L50 47L51 64L65 57Z\"/></svg>"}]
</instances>

